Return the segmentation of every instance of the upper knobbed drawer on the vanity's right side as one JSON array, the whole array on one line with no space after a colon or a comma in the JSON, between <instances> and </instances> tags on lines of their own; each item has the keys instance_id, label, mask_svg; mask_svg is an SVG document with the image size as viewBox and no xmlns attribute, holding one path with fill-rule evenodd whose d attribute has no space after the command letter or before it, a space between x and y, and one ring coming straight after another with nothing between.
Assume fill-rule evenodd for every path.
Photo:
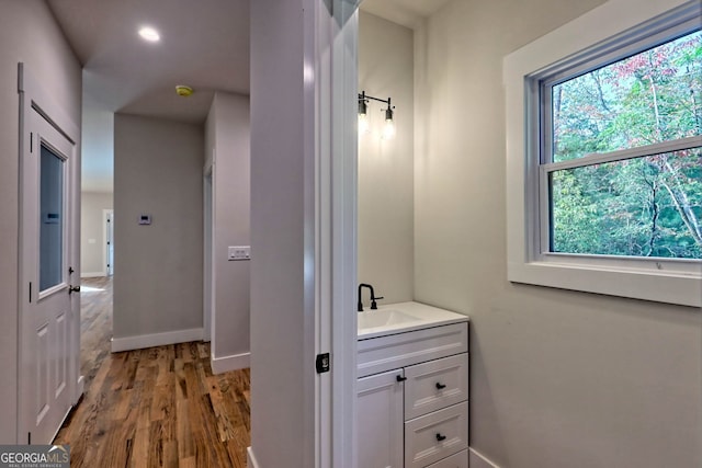
<instances>
[{"instance_id":1,"label":"upper knobbed drawer on the vanity's right side","mask_svg":"<svg viewBox=\"0 0 702 468\"><path fill-rule=\"evenodd\" d=\"M468 354L405 367L405 420L468 399Z\"/></svg>"}]
</instances>

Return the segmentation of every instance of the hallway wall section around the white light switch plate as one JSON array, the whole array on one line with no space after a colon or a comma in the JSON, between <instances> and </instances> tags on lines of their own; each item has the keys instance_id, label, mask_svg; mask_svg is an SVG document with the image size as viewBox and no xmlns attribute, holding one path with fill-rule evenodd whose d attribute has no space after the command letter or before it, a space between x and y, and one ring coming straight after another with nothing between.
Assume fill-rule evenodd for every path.
<instances>
[{"instance_id":1,"label":"hallway wall section around the white light switch plate","mask_svg":"<svg viewBox=\"0 0 702 468\"><path fill-rule=\"evenodd\" d=\"M212 335L215 372L249 365L249 261L227 259L229 246L251 243L249 139L248 96L217 92L205 123L205 157L211 160L216 155L213 165L215 317Z\"/></svg>"}]
</instances>

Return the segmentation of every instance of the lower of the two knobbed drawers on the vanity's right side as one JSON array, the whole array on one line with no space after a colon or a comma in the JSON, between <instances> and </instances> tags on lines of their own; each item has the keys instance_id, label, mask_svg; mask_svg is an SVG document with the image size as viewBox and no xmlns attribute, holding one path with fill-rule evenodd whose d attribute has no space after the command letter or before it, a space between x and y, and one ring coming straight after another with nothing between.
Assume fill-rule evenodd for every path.
<instances>
[{"instance_id":1,"label":"lower of the two knobbed drawers on the vanity's right side","mask_svg":"<svg viewBox=\"0 0 702 468\"><path fill-rule=\"evenodd\" d=\"M422 468L468 448L468 402L405 423L405 466Z\"/></svg>"}]
</instances>

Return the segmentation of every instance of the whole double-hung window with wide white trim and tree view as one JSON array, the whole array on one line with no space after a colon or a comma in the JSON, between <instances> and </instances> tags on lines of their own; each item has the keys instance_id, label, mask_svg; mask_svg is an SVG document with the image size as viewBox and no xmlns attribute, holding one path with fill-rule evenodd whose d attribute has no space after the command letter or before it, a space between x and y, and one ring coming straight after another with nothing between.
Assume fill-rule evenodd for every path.
<instances>
[{"instance_id":1,"label":"whole double-hung window with wide white trim and tree view","mask_svg":"<svg viewBox=\"0 0 702 468\"><path fill-rule=\"evenodd\" d=\"M506 57L508 274L700 307L700 5L641 10L612 0Z\"/></svg>"}]
</instances>

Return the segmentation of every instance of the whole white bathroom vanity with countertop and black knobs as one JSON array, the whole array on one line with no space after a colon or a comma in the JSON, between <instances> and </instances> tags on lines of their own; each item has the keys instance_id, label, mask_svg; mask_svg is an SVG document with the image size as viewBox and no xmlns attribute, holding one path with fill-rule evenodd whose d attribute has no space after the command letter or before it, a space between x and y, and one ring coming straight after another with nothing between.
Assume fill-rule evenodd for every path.
<instances>
[{"instance_id":1,"label":"whole white bathroom vanity with countertop and black knobs","mask_svg":"<svg viewBox=\"0 0 702 468\"><path fill-rule=\"evenodd\" d=\"M468 318L419 303L359 312L359 467L468 467Z\"/></svg>"}]
</instances>

